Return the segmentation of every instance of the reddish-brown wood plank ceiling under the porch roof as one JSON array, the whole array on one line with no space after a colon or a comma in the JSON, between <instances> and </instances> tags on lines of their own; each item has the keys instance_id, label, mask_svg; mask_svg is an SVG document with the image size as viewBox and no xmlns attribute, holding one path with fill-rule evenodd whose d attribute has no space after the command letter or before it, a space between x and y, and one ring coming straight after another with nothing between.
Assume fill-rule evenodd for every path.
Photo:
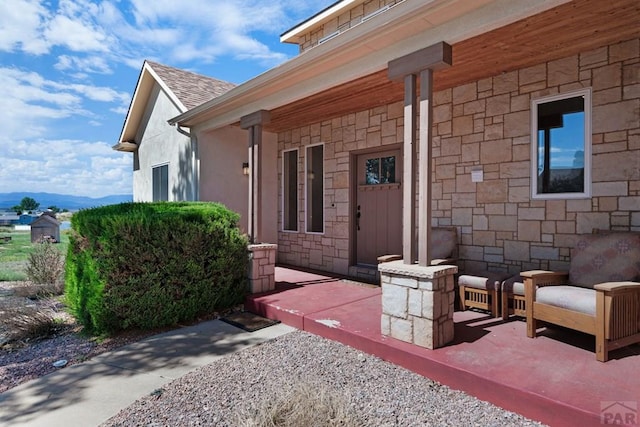
<instances>
[{"instance_id":1,"label":"reddish-brown wood plank ceiling under the porch roof","mask_svg":"<svg viewBox=\"0 0 640 427\"><path fill-rule=\"evenodd\" d=\"M576 0L454 44L453 66L434 74L434 90L638 37L639 22L637 0ZM403 84L383 70L272 110L266 129L281 132L403 97Z\"/></svg>"}]
</instances>

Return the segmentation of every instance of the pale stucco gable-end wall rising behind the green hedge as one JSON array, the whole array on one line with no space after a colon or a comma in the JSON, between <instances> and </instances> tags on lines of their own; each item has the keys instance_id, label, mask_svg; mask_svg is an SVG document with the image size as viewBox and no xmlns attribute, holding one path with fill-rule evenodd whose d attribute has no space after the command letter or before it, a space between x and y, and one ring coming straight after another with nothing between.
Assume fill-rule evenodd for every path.
<instances>
[{"instance_id":1,"label":"pale stucco gable-end wall rising behind the green hedge","mask_svg":"<svg viewBox=\"0 0 640 427\"><path fill-rule=\"evenodd\" d=\"M168 164L169 200L195 200L191 139L167 120L181 111L155 84L136 135L138 170L133 172L133 200L153 200L152 168Z\"/></svg>"}]
</instances>

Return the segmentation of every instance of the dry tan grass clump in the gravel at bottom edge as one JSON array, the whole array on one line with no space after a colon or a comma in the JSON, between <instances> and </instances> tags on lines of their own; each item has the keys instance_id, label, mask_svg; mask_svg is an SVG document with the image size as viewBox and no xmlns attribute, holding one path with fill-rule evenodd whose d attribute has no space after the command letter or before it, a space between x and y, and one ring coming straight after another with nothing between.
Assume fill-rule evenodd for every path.
<instances>
[{"instance_id":1,"label":"dry tan grass clump in the gravel at bottom edge","mask_svg":"<svg viewBox=\"0 0 640 427\"><path fill-rule=\"evenodd\" d=\"M242 427L361 426L344 396L324 385L299 383L263 402L254 414L239 416Z\"/></svg>"}]
</instances>

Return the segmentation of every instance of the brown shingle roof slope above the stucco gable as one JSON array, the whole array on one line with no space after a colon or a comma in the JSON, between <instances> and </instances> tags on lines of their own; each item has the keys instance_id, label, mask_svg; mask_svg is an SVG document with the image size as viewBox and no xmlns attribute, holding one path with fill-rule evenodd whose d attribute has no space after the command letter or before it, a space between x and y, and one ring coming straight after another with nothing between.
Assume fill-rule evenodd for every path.
<instances>
[{"instance_id":1,"label":"brown shingle roof slope above the stucco gable","mask_svg":"<svg viewBox=\"0 0 640 427\"><path fill-rule=\"evenodd\" d=\"M236 86L233 83L168 67L157 62L147 61L147 64L188 110L204 104Z\"/></svg>"}]
</instances>

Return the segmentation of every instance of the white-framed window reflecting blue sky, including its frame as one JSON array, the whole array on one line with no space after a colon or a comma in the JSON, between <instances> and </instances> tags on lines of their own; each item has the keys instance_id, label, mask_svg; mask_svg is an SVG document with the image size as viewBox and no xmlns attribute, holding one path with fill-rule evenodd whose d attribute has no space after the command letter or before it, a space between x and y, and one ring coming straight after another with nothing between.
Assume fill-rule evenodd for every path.
<instances>
[{"instance_id":1,"label":"white-framed window reflecting blue sky, including its frame","mask_svg":"<svg viewBox=\"0 0 640 427\"><path fill-rule=\"evenodd\" d=\"M591 196L591 90L531 104L531 197Z\"/></svg>"}]
</instances>

